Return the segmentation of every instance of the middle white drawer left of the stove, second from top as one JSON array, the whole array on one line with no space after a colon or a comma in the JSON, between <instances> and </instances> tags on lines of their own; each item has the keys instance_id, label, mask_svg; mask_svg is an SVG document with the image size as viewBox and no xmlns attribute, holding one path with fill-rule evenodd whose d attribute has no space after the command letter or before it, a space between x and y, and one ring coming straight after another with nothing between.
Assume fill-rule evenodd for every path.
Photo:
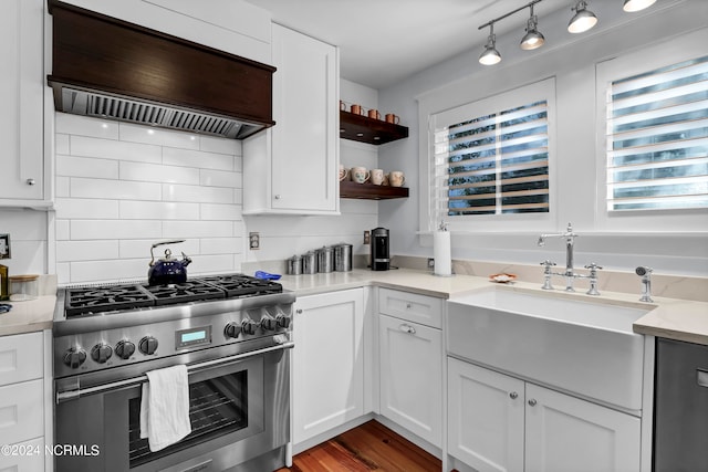
<instances>
[{"instance_id":1,"label":"middle white drawer left of the stove, second from top","mask_svg":"<svg viewBox=\"0 0 708 472\"><path fill-rule=\"evenodd\" d=\"M0 444L44 436L42 380L0 387Z\"/></svg>"}]
</instances>

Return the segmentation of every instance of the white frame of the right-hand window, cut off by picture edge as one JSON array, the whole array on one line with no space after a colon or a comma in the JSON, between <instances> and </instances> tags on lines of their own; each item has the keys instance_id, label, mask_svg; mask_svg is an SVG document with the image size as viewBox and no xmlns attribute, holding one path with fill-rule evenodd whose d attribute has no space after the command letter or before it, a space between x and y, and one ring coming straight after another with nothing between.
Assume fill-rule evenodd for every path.
<instances>
[{"instance_id":1,"label":"white frame of the right-hand window, cut off by picture edge","mask_svg":"<svg viewBox=\"0 0 708 472\"><path fill-rule=\"evenodd\" d=\"M629 54L603 61L595 66L596 86L596 230L622 232L706 231L708 209L607 210L607 109L606 94L613 81L650 72L706 55L708 29L675 40L653 44Z\"/></svg>"}]
</instances>

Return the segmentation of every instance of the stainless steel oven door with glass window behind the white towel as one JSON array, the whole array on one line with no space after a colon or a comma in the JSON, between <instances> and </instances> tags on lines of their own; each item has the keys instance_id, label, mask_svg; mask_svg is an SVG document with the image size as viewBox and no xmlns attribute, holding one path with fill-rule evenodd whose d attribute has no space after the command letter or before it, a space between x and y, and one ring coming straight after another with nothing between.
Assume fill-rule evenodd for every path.
<instances>
[{"instance_id":1,"label":"stainless steel oven door with glass window behind the white towel","mask_svg":"<svg viewBox=\"0 0 708 472\"><path fill-rule=\"evenodd\" d=\"M60 402L56 442L75 449L56 457L56 470L225 471L249 461L259 471L283 466L290 438L288 353L283 347L232 358L189 366L192 431L157 452L139 438L142 382L122 380Z\"/></svg>"}]
</instances>

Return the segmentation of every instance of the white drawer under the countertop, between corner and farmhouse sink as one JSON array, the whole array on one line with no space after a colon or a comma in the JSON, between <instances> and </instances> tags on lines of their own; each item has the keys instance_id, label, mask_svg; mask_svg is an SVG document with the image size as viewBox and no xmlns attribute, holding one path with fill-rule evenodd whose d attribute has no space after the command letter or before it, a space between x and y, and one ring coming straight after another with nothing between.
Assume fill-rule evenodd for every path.
<instances>
[{"instance_id":1,"label":"white drawer under the countertop, between corner and farmhouse sink","mask_svg":"<svg viewBox=\"0 0 708 472\"><path fill-rule=\"evenodd\" d=\"M417 293L378 289L378 312L434 328L442 328L444 300Z\"/></svg>"}]
</instances>

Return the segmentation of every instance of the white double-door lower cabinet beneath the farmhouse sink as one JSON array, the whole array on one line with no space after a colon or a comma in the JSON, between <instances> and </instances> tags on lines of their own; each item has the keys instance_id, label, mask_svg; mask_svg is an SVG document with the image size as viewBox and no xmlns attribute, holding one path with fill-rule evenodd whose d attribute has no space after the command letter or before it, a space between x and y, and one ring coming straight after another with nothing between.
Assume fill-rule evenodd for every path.
<instances>
[{"instance_id":1,"label":"white double-door lower cabinet beneath the farmhouse sink","mask_svg":"<svg viewBox=\"0 0 708 472\"><path fill-rule=\"evenodd\" d=\"M480 471L639 470L641 420L448 358L448 453Z\"/></svg>"}]
</instances>

